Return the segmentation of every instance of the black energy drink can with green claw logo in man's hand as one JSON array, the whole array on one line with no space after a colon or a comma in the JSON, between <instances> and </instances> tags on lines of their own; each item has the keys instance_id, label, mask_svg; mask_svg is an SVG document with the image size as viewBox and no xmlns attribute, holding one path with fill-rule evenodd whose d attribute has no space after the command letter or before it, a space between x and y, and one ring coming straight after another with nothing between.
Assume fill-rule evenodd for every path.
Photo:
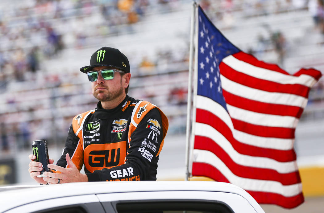
<instances>
[{"instance_id":1,"label":"black energy drink can with green claw logo in man's hand","mask_svg":"<svg viewBox=\"0 0 324 213\"><path fill-rule=\"evenodd\" d=\"M36 156L34 161L40 162L42 164L43 170L37 177L44 177L43 172L51 172L51 169L47 167L49 162L47 143L45 140L34 140L33 144L33 154Z\"/></svg>"}]
</instances>

